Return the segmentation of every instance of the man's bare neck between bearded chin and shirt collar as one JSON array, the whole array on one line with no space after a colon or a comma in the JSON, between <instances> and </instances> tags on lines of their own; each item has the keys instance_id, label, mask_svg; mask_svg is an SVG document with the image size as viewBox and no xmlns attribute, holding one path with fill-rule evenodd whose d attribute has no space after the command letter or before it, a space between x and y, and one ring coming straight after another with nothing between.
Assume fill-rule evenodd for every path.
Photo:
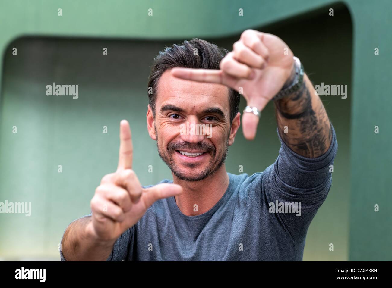
<instances>
[{"instance_id":1,"label":"man's bare neck between bearded chin and shirt collar","mask_svg":"<svg viewBox=\"0 0 392 288\"><path fill-rule=\"evenodd\" d=\"M173 174L173 183L183 188L180 195L174 196L182 214L196 216L207 212L218 203L229 186L229 176L223 164L213 175L200 181L180 180Z\"/></svg>"}]
</instances>

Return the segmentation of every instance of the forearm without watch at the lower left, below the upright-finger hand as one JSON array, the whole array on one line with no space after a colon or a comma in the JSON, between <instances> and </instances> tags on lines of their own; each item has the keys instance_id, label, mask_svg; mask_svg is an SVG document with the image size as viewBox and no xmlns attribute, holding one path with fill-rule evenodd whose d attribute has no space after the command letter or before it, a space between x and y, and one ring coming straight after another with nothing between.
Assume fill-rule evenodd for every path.
<instances>
[{"instance_id":1,"label":"forearm without watch at the lower left, below the upright-finger hand","mask_svg":"<svg viewBox=\"0 0 392 288\"><path fill-rule=\"evenodd\" d=\"M62 253L67 261L105 261L115 241L99 241L93 233L90 217L71 223L64 233Z\"/></svg>"}]
</instances>

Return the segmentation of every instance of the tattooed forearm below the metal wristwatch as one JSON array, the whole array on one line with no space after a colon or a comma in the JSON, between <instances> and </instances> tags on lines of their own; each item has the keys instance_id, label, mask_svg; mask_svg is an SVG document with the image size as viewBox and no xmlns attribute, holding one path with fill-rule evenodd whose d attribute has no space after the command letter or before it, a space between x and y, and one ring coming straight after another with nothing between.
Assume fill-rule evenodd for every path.
<instances>
[{"instance_id":1,"label":"tattooed forearm below the metal wristwatch","mask_svg":"<svg viewBox=\"0 0 392 288\"><path fill-rule=\"evenodd\" d=\"M330 121L306 74L297 92L274 103L279 134L290 149L308 158L327 152L332 140Z\"/></svg>"}]
</instances>

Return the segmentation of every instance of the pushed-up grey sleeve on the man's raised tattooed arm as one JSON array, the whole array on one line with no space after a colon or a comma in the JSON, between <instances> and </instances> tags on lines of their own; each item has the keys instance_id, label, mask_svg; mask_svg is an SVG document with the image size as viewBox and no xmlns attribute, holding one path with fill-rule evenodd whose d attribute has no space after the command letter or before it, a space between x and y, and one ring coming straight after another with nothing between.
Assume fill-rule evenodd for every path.
<instances>
[{"instance_id":1,"label":"pushed-up grey sleeve on the man's raised tattooed arm","mask_svg":"<svg viewBox=\"0 0 392 288\"><path fill-rule=\"evenodd\" d=\"M281 143L279 156L275 163L263 172L261 190L267 201L266 208L269 208L272 216L277 218L294 240L303 241L303 244L310 222L327 198L332 185L333 161L338 150L338 142L332 123L330 125L330 147L325 154L317 158L303 157L291 150L277 129ZM285 210L285 213L280 213L280 203L284 203L287 208L290 205L297 205L296 211L287 213Z\"/></svg>"}]
</instances>

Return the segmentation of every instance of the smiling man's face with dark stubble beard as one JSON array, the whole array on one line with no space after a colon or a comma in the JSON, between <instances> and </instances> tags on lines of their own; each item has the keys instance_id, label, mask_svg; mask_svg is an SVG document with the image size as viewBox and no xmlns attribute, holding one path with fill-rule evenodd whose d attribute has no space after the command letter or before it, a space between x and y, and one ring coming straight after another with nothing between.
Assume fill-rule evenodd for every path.
<instances>
[{"instance_id":1,"label":"smiling man's face with dark stubble beard","mask_svg":"<svg viewBox=\"0 0 392 288\"><path fill-rule=\"evenodd\" d=\"M155 113L153 118L150 108L147 112L149 134L177 178L202 180L223 165L240 121L237 115L231 131L226 86L182 80L165 71L158 82Z\"/></svg>"}]
</instances>

